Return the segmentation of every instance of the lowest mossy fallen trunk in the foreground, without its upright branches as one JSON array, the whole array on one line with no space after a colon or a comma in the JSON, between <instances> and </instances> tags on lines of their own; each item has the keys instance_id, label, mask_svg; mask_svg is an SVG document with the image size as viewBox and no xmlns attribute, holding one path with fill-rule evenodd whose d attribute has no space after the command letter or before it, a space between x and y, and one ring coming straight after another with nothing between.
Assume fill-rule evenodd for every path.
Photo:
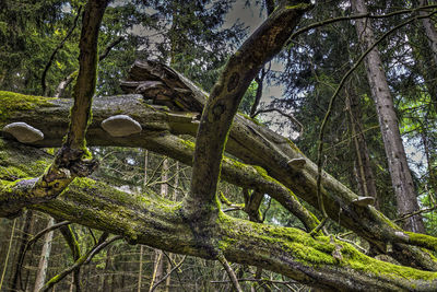
<instances>
[{"instance_id":1,"label":"lowest mossy fallen trunk in the foreground, without its upright branches","mask_svg":"<svg viewBox=\"0 0 437 292\"><path fill-rule=\"evenodd\" d=\"M37 176L51 160L43 151L14 142L1 141L0 150L2 163L9 165L2 179L11 178L12 172L15 178ZM436 272L373 259L332 237L314 238L297 229L224 213L210 226L211 237L203 237L192 232L180 203L126 194L90 178L76 178L58 198L29 208L172 253L214 259L218 245L231 261L280 272L323 291L434 291L437 285Z\"/></svg>"}]
</instances>

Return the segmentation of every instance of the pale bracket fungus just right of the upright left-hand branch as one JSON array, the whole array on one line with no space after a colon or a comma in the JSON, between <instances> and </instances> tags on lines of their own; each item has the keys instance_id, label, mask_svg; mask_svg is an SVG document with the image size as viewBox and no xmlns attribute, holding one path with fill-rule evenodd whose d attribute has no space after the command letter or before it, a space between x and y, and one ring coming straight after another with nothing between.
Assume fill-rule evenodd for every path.
<instances>
[{"instance_id":1,"label":"pale bracket fungus just right of the upright left-hand branch","mask_svg":"<svg viewBox=\"0 0 437 292\"><path fill-rule=\"evenodd\" d=\"M140 122L127 115L108 117L102 121L102 128L113 137L126 137L142 131Z\"/></svg>"}]
</instances>

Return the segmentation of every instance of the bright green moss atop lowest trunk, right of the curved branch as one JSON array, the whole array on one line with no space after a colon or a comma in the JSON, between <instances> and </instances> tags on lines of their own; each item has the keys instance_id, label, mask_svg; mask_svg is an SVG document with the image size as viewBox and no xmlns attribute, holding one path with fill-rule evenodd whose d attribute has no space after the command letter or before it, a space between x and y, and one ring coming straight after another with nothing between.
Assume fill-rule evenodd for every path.
<instances>
[{"instance_id":1,"label":"bright green moss atop lowest trunk, right of the curved branch","mask_svg":"<svg viewBox=\"0 0 437 292\"><path fill-rule=\"evenodd\" d=\"M359 253L351 244L331 240L328 236L312 238L308 233L297 229L257 224L233 219L224 213L220 214L218 224L227 235L218 242L222 249L240 244L241 238L258 238L269 246L277 246L286 250L290 255L293 255L295 260L305 264L350 267L375 275L375 277L392 277L393 279L425 281L437 279L437 272L422 271L380 261ZM332 256L336 247L340 247L342 255L340 260Z\"/></svg>"}]
</instances>

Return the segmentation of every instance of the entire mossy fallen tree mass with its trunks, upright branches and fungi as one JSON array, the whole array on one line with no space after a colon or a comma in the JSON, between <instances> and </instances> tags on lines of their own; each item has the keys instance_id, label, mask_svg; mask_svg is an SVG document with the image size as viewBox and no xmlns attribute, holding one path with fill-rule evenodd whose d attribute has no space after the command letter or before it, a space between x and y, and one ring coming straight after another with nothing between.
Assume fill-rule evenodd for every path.
<instances>
[{"instance_id":1,"label":"entire mossy fallen tree mass with its trunks, upright branches and fungi","mask_svg":"<svg viewBox=\"0 0 437 292\"><path fill-rule=\"evenodd\" d=\"M292 141L237 114L253 78L311 9L309 1L279 1L231 56L209 96L165 65L137 61L121 84L126 95L93 101L97 37L107 4L90 0L84 9L73 102L0 92L1 217L14 218L27 208L104 231L94 253L122 237L220 260L237 290L228 261L269 269L323 291L436 290L437 238L403 231L377 211L370 198L320 173ZM98 162L87 145L143 148L191 165L190 191L175 202L91 179ZM55 159L38 149L54 147L59 148ZM225 214L216 194L218 179L253 190L248 196L269 194L307 232ZM297 197L397 265L327 235ZM256 213L259 201L249 199L245 208ZM107 240L107 234L115 236ZM76 258L44 289L74 271L86 256L92 255Z\"/></svg>"}]
</instances>

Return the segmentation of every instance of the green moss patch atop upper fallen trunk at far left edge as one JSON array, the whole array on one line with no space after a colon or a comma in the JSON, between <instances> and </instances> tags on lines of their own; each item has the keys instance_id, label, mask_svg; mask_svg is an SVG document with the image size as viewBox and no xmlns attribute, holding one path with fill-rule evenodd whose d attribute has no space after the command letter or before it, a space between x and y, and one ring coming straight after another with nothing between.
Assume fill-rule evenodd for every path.
<instances>
[{"instance_id":1,"label":"green moss patch atop upper fallen trunk at far left edge","mask_svg":"<svg viewBox=\"0 0 437 292\"><path fill-rule=\"evenodd\" d=\"M50 101L56 98L24 95L0 91L0 121L4 121L13 112L28 110L37 106L54 106Z\"/></svg>"}]
</instances>

